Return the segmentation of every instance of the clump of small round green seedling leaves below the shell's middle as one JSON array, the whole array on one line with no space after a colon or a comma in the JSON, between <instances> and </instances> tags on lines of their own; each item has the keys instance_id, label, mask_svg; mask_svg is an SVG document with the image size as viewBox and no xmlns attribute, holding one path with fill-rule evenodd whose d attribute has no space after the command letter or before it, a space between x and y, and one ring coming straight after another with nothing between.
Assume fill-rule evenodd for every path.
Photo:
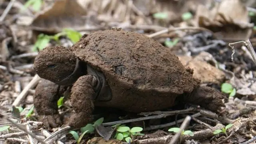
<instances>
[{"instance_id":1,"label":"clump of small round green seedling leaves below the shell's middle","mask_svg":"<svg viewBox=\"0 0 256 144\"><path fill-rule=\"evenodd\" d=\"M126 142L132 142L132 136L138 136L138 135L144 135L142 133L140 133L143 128L141 127L133 127L133 128L129 128L128 126L122 125L114 125L112 127L118 127L116 129L116 134L114 136L114 138L116 138L117 140L122 140L122 141L126 141Z\"/></svg>"}]
</instances>

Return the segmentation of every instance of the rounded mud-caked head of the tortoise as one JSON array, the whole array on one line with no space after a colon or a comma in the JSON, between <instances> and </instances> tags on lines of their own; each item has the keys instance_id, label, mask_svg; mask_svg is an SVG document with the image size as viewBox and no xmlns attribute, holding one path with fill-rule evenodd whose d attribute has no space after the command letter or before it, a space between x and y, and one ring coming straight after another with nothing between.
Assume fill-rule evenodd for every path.
<instances>
[{"instance_id":1,"label":"rounded mud-caked head of the tortoise","mask_svg":"<svg viewBox=\"0 0 256 144\"><path fill-rule=\"evenodd\" d=\"M68 85L66 79L74 74L77 65L75 54L63 46L46 47L34 60L38 76L59 85Z\"/></svg>"}]
</instances>

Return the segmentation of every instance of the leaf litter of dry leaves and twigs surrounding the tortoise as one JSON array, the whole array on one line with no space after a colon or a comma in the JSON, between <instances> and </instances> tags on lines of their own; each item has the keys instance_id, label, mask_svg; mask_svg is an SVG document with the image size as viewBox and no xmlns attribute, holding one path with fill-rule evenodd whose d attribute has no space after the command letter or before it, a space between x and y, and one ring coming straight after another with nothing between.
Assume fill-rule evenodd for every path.
<instances>
[{"instance_id":1,"label":"leaf litter of dry leaves and twigs surrounding the tortoise","mask_svg":"<svg viewBox=\"0 0 256 144\"><path fill-rule=\"evenodd\" d=\"M168 129L181 128L182 122L186 130L191 130L194 134L184 135L182 141L177 142L255 142L256 64L244 44L235 44L234 54L228 46L229 43L249 38L252 46L256 47L256 14L253 14L256 2L253 0L40 2L24 8L24 0L0 1L0 144L32 144L40 141L40 138L48 138L50 143L54 140L67 144L76 142L65 128L46 130L42 127L42 122L37 120L36 110L33 109L33 94L40 79L32 68L34 57L40 44L43 44L42 48L54 45L72 46L77 38L72 40L72 36L66 36L68 33L63 33L66 28L72 29L73 31L69 31L72 34L75 31L88 34L113 27L152 36L175 52L184 66L193 68L194 76L201 79L202 85L212 86L223 93L225 88L232 86L232 91L227 90L227 97L223 100L226 104L226 117L191 105L183 110L169 109L143 113L140 116L111 108L99 108L95 110L96 120L104 117L104 122L96 126L94 132L85 134L81 144L124 143L113 138L116 128L109 126L115 124L124 124L130 128L142 127L145 135L132 137L134 143L167 144L175 139L175 133L168 132ZM5 14L5 11L8 13ZM163 32L159 33L160 31ZM41 42L34 49L40 34L45 37L40 39ZM47 36L53 37L45 39ZM61 114L67 113L69 107L69 102L65 102L60 107ZM185 124L185 117L188 115L192 119L189 124ZM228 137L222 133L214 135L215 130L222 130L230 123L233 126L227 129ZM28 135L30 132L34 135ZM77 132L80 136L81 132ZM58 133L62 134L57 135Z\"/></svg>"}]
</instances>

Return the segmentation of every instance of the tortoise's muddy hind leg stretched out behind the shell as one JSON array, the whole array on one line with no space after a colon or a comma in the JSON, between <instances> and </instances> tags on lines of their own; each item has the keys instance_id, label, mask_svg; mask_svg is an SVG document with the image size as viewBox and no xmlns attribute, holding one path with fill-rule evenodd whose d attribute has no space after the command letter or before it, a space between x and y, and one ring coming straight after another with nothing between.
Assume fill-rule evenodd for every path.
<instances>
[{"instance_id":1,"label":"tortoise's muddy hind leg stretched out behind the shell","mask_svg":"<svg viewBox=\"0 0 256 144\"><path fill-rule=\"evenodd\" d=\"M222 102L224 98L225 96L221 92L208 86L200 86L195 88L189 95L184 95L184 101L198 104L217 113L222 110L222 107L225 107L225 104Z\"/></svg>"}]
</instances>

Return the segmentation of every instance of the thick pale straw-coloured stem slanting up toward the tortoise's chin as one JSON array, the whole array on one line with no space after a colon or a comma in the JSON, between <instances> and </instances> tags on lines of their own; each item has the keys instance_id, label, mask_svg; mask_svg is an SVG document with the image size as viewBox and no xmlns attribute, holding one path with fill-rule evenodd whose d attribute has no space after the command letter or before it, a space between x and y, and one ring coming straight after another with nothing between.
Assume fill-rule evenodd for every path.
<instances>
[{"instance_id":1,"label":"thick pale straw-coloured stem slanting up toward the tortoise's chin","mask_svg":"<svg viewBox=\"0 0 256 144\"><path fill-rule=\"evenodd\" d=\"M24 100L26 95L28 94L28 90L30 88L34 88L40 79L41 78L36 74L34 76L34 78L28 83L28 85L24 88L24 90L22 90L22 92L19 94L19 96L14 100L12 105L18 106L22 102L22 100Z\"/></svg>"}]
</instances>

